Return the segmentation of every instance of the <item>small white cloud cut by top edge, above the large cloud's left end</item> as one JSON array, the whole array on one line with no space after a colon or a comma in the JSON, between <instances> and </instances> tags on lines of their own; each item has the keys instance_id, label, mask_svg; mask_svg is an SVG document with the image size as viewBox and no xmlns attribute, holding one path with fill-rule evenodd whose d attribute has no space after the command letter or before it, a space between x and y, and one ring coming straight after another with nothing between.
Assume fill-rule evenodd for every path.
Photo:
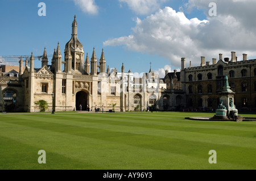
<instances>
[{"instance_id":1,"label":"small white cloud cut by top edge, above the large cloud's left end","mask_svg":"<svg viewBox=\"0 0 256 181\"><path fill-rule=\"evenodd\" d=\"M147 15L160 9L160 5L166 1L167 0L119 0L121 3L127 3L131 10L140 15Z\"/></svg>"}]
</instances>

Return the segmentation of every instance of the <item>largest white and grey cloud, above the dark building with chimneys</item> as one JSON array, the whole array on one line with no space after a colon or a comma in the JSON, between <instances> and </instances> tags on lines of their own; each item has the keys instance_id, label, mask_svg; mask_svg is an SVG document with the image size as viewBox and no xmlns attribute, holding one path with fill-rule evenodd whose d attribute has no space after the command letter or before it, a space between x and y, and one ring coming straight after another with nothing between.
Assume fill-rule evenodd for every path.
<instances>
[{"instance_id":1,"label":"largest white and grey cloud, above the dark building with chimneys","mask_svg":"<svg viewBox=\"0 0 256 181\"><path fill-rule=\"evenodd\" d=\"M209 2L212 0L190 0L186 8L205 9L208 13ZM187 66L189 61L199 66L201 56L210 62L212 58L218 60L219 53L230 57L232 51L237 52L238 60L242 60L242 53L256 56L256 1L215 2L217 16L188 19L183 12L165 7L145 19L137 18L131 35L109 39L104 45L125 45L131 51L157 54L168 58L175 68L180 68L181 57L186 57Z\"/></svg>"}]
</instances>

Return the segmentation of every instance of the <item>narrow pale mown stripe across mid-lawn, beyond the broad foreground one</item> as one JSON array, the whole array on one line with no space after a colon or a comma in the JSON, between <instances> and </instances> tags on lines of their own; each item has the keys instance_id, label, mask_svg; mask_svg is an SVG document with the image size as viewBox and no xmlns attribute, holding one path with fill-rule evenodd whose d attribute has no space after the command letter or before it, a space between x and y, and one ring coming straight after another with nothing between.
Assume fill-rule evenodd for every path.
<instances>
[{"instance_id":1,"label":"narrow pale mown stripe across mid-lawn, beyond the broad foreground one","mask_svg":"<svg viewBox=\"0 0 256 181\"><path fill-rule=\"evenodd\" d=\"M144 134L148 136L159 136L159 137L168 137L168 138L177 138L180 140L187 141L200 141L205 143L216 143L220 145L230 145L230 146L242 146L246 148L256 148L255 138L250 137L239 137L239 136L229 136L229 135L220 135L220 134L209 134L209 133L199 133L199 132L189 132L189 131L175 131L175 130L160 130L155 128L141 128L141 127L131 127L126 125L113 125L105 123L88 123L74 120L58 120L58 119L37 119L34 117L27 117L31 121L43 121L46 123L57 123L70 125L75 127L86 127L86 128L96 128L102 130L108 130L113 132L125 132L133 134ZM17 122L18 123L18 122ZM36 124L30 122L30 124Z\"/></svg>"}]
</instances>

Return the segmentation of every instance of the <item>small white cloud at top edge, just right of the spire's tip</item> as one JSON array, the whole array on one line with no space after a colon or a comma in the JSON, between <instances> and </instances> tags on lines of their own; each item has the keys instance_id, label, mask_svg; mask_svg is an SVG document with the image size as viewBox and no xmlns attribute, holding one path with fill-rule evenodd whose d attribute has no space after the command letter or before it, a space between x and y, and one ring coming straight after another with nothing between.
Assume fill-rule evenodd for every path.
<instances>
[{"instance_id":1,"label":"small white cloud at top edge, just right of the spire's tip","mask_svg":"<svg viewBox=\"0 0 256 181\"><path fill-rule=\"evenodd\" d=\"M94 0L73 0L75 5L79 6L82 11L87 14L98 14L98 6Z\"/></svg>"}]
</instances>

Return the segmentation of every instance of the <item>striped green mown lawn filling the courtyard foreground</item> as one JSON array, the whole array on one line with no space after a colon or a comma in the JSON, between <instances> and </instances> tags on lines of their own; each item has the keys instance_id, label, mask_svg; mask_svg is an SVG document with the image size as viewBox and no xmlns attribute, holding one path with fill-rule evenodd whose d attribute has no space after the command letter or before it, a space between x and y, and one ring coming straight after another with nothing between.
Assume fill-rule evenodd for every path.
<instances>
[{"instance_id":1,"label":"striped green mown lawn filling the courtyard foreground","mask_svg":"<svg viewBox=\"0 0 256 181\"><path fill-rule=\"evenodd\" d=\"M213 113L0 115L0 169L256 169L256 122ZM256 117L256 115L246 115ZM46 151L46 164L38 151ZM210 164L210 150L217 164Z\"/></svg>"}]
</instances>

